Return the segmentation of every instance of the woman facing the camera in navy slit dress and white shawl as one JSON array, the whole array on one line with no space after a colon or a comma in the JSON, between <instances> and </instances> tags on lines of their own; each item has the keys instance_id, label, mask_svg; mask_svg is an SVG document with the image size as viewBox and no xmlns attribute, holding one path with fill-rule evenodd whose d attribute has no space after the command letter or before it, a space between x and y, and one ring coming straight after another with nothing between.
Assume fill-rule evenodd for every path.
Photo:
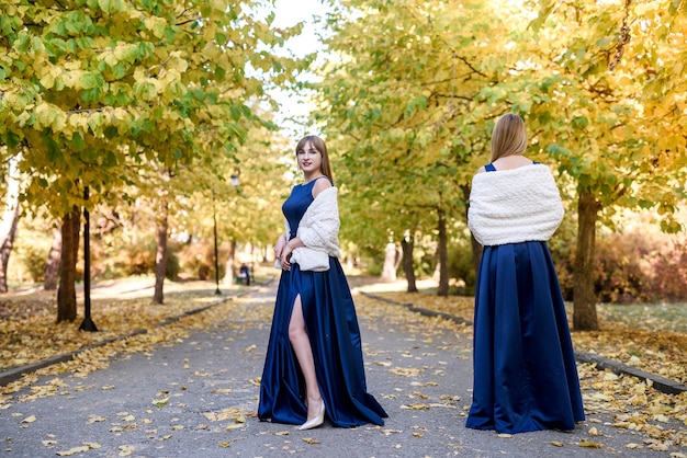
<instances>
[{"instance_id":1,"label":"woman facing the camera in navy slit dress and white shawl","mask_svg":"<svg viewBox=\"0 0 687 458\"><path fill-rule=\"evenodd\" d=\"M314 135L295 148L304 182L282 211L285 234L274 245L282 268L260 383L263 421L342 427L383 425L386 412L367 392L360 329L339 263L337 188L325 142Z\"/></svg>"}]
</instances>

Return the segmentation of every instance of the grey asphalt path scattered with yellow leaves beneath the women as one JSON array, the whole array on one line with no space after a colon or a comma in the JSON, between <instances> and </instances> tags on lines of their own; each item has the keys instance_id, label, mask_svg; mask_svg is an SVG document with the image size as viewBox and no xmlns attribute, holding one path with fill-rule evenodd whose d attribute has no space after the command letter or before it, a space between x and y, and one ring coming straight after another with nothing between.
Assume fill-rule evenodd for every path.
<instances>
[{"instance_id":1,"label":"grey asphalt path scattered with yellow leaves beneath the women","mask_svg":"<svg viewBox=\"0 0 687 458\"><path fill-rule=\"evenodd\" d=\"M226 307L226 320L174 344L114 357L86 378L42 377L0 410L0 457L661 457L642 432L589 412L574 432L465 428L472 341L446 320L390 304L359 307L368 390L384 426L300 432L256 417L275 282ZM585 392L585 396L594 396ZM21 400L20 400L21 399ZM679 425L678 425L679 427ZM590 435L589 431L594 430ZM585 447L585 440L600 448ZM638 448L628 448L637 444Z\"/></svg>"}]
</instances>

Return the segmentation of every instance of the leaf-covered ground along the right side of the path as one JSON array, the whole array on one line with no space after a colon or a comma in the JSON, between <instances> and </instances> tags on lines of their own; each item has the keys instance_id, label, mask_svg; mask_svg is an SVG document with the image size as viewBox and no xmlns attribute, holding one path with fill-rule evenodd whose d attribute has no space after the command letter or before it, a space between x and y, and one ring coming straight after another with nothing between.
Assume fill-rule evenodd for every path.
<instances>
[{"instance_id":1,"label":"leaf-covered ground along the right side of the path","mask_svg":"<svg viewBox=\"0 0 687 458\"><path fill-rule=\"evenodd\" d=\"M416 308L444 312L469 321L473 319L472 297L444 298L435 294L408 294L390 289L393 288L384 285L362 288L372 297L412 304ZM573 332L573 345L577 351L596 353L685 383L687 334L666 329L684 329L687 310L675 307L668 314L664 311L665 307L662 307L660 313L652 314L650 308L644 307L640 313L634 314L638 317L634 321L632 316L619 313L618 307L609 309L600 306L600 330ZM609 370L598 370L590 364L579 365L579 379L587 414L612 413L615 428L629 433L644 432L650 436L647 443L631 443L630 449L647 447L662 451L667 450L671 445L687 446L687 392L665 394L653 389L651 382L646 383L630 376L618 376ZM683 427L669 426L671 420ZM594 432L590 434L594 435ZM589 446L594 446L593 443ZM683 458L687 455L671 456Z\"/></svg>"}]
</instances>

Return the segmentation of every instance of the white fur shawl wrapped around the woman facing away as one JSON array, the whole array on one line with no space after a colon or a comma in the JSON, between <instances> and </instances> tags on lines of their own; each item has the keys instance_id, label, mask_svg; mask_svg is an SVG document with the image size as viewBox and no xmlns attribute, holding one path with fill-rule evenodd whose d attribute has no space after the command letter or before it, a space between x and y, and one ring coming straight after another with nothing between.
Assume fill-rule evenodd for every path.
<instances>
[{"instance_id":1,"label":"white fur shawl wrapped around the woman facing away","mask_svg":"<svg viewBox=\"0 0 687 458\"><path fill-rule=\"evenodd\" d=\"M484 247L547 241L563 213L548 165L477 173L472 180L468 225Z\"/></svg>"}]
</instances>

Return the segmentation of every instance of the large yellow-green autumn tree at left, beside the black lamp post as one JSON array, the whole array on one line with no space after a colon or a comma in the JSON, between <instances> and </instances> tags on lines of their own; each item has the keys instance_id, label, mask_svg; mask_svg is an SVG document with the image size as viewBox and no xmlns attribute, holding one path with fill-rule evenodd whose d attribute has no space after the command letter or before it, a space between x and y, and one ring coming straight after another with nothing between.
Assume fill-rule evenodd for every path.
<instances>
[{"instance_id":1,"label":"large yellow-green autumn tree at left, beside the black lamp post","mask_svg":"<svg viewBox=\"0 0 687 458\"><path fill-rule=\"evenodd\" d=\"M23 201L63 219L58 320L76 317L78 209L120 201L150 163L233 154L261 78L292 80L293 59L255 50L299 27L270 30L256 4L2 0L0 142L24 151Z\"/></svg>"}]
</instances>

